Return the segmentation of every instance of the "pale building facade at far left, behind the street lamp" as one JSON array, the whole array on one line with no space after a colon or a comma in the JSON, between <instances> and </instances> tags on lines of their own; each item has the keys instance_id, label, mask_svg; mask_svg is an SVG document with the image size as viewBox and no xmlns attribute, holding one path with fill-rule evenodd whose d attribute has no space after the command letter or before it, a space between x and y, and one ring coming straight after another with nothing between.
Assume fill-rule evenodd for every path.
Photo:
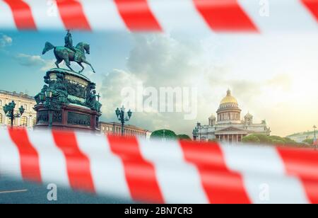
<instances>
[{"instance_id":1,"label":"pale building facade at far left, behind the street lamp","mask_svg":"<svg viewBox=\"0 0 318 218\"><path fill-rule=\"evenodd\" d=\"M25 93L16 93L9 91L0 91L0 127L11 125L10 119L4 114L4 105L14 101L16 103L15 113L18 113L18 108L23 106L25 112L19 118L16 118L13 125L16 127L33 128L37 120L37 113L33 110L35 100L33 97Z\"/></svg>"}]
</instances>

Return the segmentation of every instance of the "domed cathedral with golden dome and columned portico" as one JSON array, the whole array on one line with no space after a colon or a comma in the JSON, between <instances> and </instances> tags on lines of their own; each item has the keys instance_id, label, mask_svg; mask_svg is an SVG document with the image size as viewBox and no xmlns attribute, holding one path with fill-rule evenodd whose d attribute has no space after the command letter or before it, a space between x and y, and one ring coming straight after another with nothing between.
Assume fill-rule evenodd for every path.
<instances>
[{"instance_id":1,"label":"domed cathedral with golden dome and columned portico","mask_svg":"<svg viewBox=\"0 0 318 218\"><path fill-rule=\"evenodd\" d=\"M197 123L193 131L194 140L237 143L249 134L269 135L271 133L265 120L262 120L261 123L254 123L253 116L250 113L247 113L241 119L241 111L236 98L228 90L226 96L220 102L216 116L208 117L208 125Z\"/></svg>"}]
</instances>

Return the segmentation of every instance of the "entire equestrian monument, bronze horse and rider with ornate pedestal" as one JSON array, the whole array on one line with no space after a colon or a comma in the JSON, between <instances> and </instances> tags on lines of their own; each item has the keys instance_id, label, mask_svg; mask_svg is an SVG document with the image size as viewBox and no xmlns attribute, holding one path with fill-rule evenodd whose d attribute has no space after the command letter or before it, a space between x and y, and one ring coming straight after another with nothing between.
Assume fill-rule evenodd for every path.
<instances>
[{"instance_id":1,"label":"entire equestrian monument, bronze horse and rider with ornate pedestal","mask_svg":"<svg viewBox=\"0 0 318 218\"><path fill-rule=\"evenodd\" d=\"M98 118L102 115L100 112L102 104L99 102L100 96L95 91L96 85L86 76L74 72L70 63L77 62L83 71L82 62L90 65L85 57L85 52L90 53L90 46L80 42L73 47L73 39L69 31L64 40L64 47L54 47L47 42L42 52L45 54L54 49L55 57L57 57L55 64L58 69L47 71L44 76L45 85L35 96L37 102L34 107L37 111L35 128L98 131ZM59 63L63 60L71 71L59 69Z\"/></svg>"}]
</instances>

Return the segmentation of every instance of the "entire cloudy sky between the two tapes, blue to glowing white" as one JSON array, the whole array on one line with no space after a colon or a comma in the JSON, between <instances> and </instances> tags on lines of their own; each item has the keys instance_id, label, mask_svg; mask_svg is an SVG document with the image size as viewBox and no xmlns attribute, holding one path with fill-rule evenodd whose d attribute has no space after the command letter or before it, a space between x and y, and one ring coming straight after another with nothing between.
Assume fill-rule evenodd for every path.
<instances>
[{"instance_id":1,"label":"entire cloudy sky between the two tapes, blue to glowing white","mask_svg":"<svg viewBox=\"0 0 318 218\"><path fill-rule=\"evenodd\" d=\"M46 41L64 43L64 32L0 33L0 89L35 95L54 55L41 55ZM211 33L133 34L73 33L73 42L88 42L97 74L90 76L102 95L102 120L114 121L122 89L192 87L198 92L197 116L184 113L134 113L132 125L149 130L169 128L191 134L197 121L216 114L228 88L242 115L266 119L272 134L311 130L318 124L317 35L212 35ZM72 67L76 64L72 64ZM74 67L80 69L77 66Z\"/></svg>"}]
</instances>

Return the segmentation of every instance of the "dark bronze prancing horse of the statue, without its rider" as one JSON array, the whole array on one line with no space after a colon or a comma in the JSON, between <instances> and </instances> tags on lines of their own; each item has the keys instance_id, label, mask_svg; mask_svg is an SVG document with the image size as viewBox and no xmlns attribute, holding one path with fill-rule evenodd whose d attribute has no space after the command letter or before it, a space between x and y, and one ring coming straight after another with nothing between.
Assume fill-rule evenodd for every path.
<instances>
[{"instance_id":1,"label":"dark bronze prancing horse of the statue, without its rider","mask_svg":"<svg viewBox=\"0 0 318 218\"><path fill-rule=\"evenodd\" d=\"M59 64L62 61L64 61L66 66L69 67L71 71L73 71L73 69L71 68L70 62L76 62L78 63L78 65L82 67L81 71L78 72L78 73L81 73L85 69L82 63L85 63L90 65L93 72L95 73L95 70L93 69L92 64L90 64L90 62L88 62L85 57L85 52L87 54L90 54L90 45L86 44L85 42L79 42L75 48L77 52L74 52L73 50L70 50L69 48L63 47L63 46L55 47L51 43L46 42L45 48L43 49L42 54L45 54L49 50L54 49L54 55L57 58L57 62L55 62L55 64L57 65L57 68L59 68Z\"/></svg>"}]
</instances>

